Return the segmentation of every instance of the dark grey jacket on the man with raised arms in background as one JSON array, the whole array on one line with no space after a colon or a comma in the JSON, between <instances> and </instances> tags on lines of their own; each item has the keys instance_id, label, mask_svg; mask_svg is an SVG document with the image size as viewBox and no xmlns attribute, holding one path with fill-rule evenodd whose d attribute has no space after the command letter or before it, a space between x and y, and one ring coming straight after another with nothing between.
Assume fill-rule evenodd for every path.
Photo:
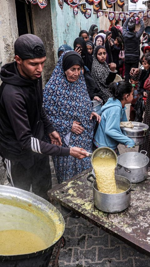
<instances>
[{"instance_id":1,"label":"dark grey jacket on the man with raised arms in background","mask_svg":"<svg viewBox=\"0 0 150 267\"><path fill-rule=\"evenodd\" d=\"M141 28L136 33L127 31L129 21L130 18L123 24L124 54L125 56L139 57L139 39L145 29L144 22L143 19L140 18Z\"/></svg>"}]
</instances>

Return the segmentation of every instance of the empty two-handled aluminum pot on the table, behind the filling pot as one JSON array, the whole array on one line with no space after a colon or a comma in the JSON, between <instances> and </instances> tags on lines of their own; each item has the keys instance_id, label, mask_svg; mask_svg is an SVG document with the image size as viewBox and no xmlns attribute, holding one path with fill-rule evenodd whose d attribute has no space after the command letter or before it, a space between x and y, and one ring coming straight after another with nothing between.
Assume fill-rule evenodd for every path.
<instances>
[{"instance_id":1,"label":"empty two-handled aluminum pot on the table, behind the filling pot","mask_svg":"<svg viewBox=\"0 0 150 267\"><path fill-rule=\"evenodd\" d=\"M145 155L141 152L145 152ZM148 176L149 158L147 152L127 152L118 157L116 172L127 177L132 183L142 182Z\"/></svg>"}]
</instances>

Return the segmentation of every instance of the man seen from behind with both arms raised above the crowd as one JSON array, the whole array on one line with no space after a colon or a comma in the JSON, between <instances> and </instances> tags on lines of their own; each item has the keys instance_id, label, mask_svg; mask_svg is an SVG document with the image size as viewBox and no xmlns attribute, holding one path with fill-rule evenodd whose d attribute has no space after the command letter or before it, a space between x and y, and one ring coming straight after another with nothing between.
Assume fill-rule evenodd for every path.
<instances>
[{"instance_id":1,"label":"man seen from behind with both arms raised above the crowd","mask_svg":"<svg viewBox=\"0 0 150 267\"><path fill-rule=\"evenodd\" d=\"M134 13L131 13L130 17L123 24L123 39L124 39L124 64L125 64L125 81L129 81L131 68L138 68L139 57L140 57L140 37L144 31L144 22L139 13L137 17L140 19L141 28L136 33L135 23L130 22L130 18L133 17ZM128 26L128 31L127 31Z\"/></svg>"}]
</instances>

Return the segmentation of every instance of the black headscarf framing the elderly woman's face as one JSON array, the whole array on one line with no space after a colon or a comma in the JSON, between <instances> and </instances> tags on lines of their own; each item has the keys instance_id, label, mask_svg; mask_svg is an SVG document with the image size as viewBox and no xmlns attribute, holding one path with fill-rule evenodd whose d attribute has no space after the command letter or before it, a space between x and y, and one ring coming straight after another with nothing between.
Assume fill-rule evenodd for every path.
<instances>
[{"instance_id":1,"label":"black headscarf framing the elderly woman's face","mask_svg":"<svg viewBox=\"0 0 150 267\"><path fill-rule=\"evenodd\" d=\"M82 57L75 51L70 51L63 56L63 70L71 68L78 64L82 68Z\"/></svg>"}]
</instances>

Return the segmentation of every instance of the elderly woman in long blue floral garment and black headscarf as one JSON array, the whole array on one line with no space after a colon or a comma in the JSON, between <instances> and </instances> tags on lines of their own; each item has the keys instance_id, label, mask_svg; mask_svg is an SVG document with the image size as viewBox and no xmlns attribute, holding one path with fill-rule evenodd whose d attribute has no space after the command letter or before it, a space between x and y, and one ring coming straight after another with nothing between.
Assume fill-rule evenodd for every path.
<instances>
[{"instance_id":1,"label":"elderly woman in long blue floral garment and black headscarf","mask_svg":"<svg viewBox=\"0 0 150 267\"><path fill-rule=\"evenodd\" d=\"M64 52L44 88L44 109L59 132L63 146L78 146L92 152L93 112L92 102L81 71L82 58L74 51ZM58 182L91 167L89 157L53 157Z\"/></svg>"}]
</instances>

